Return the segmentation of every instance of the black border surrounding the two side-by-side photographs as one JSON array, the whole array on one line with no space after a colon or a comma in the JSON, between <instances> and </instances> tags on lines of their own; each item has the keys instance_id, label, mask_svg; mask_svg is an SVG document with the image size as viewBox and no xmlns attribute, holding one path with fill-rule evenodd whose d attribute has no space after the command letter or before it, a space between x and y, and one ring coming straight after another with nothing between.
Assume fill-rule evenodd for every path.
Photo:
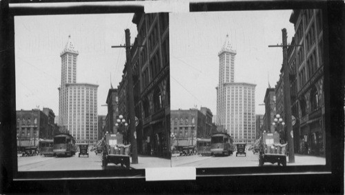
<instances>
[{"instance_id":1,"label":"black border surrounding the two side-by-side photographs","mask_svg":"<svg viewBox=\"0 0 345 195\"><path fill-rule=\"evenodd\" d=\"M26 1L11 1L11 3ZM33 1L37 3L37 1ZM52 2L52 1L45 1ZM54 1L56 2L56 1ZM61 1L60 1L61 2ZM66 2L66 1L65 1ZM79 1L67 1L79 2ZM90 2L90 1L86 1ZM326 166L286 167L230 167L197 169L195 181L146 182L144 170L134 172L90 171L84 178L83 171L17 173L17 147L15 135L15 79L14 79L14 17L34 14L97 14L143 11L142 8L125 6L107 8L99 6L32 10L9 9L8 1L1 1L0 10L0 193L338 193L344 194L344 3L342 1L231 1L222 3L190 3L192 12L226 10L272 10L322 8L324 21L325 108L326 108ZM140 7L140 6L139 6ZM328 42L328 43L326 43ZM326 52L328 51L328 52ZM329 94L329 95L326 95ZM14 108L14 109L13 109ZM10 147L9 147L10 146ZM330 154L330 152L332 154ZM330 161L331 160L331 161ZM14 162L15 161L15 162ZM13 167L13 164L16 166ZM253 168L253 169L252 169ZM267 169L266 169L267 168ZM331 173L329 172L331 169ZM130 170L132 171L132 170ZM89 171L88 171L89 173ZM116 176L114 177L114 175ZM13 180L13 178L23 180ZM92 177L92 178L91 178ZM29 178L29 180L25 180ZM43 178L43 180L42 180Z\"/></svg>"}]
</instances>

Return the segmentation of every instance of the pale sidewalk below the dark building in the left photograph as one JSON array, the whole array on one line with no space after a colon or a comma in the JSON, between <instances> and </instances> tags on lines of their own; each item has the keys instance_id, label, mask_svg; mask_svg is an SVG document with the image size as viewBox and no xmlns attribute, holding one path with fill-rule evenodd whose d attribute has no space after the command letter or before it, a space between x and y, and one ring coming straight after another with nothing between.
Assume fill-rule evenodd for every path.
<instances>
[{"instance_id":1,"label":"pale sidewalk below the dark building in the left photograph","mask_svg":"<svg viewBox=\"0 0 345 195\"><path fill-rule=\"evenodd\" d=\"M132 158L130 158L130 167L132 169L145 169L152 167L170 167L170 159L159 158L155 156L143 156L138 155L138 163L132 164Z\"/></svg>"}]
</instances>

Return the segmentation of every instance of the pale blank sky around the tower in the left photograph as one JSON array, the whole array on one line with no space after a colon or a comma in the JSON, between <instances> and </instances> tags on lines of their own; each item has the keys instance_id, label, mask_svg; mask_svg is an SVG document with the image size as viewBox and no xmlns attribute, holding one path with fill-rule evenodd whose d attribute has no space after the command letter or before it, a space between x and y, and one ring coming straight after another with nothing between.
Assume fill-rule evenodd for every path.
<instances>
[{"instance_id":1,"label":"pale blank sky around the tower in the left photograph","mask_svg":"<svg viewBox=\"0 0 345 195\"><path fill-rule=\"evenodd\" d=\"M99 85L98 114L106 115L106 97L121 81L126 61L125 29L137 37L133 14L75 14L14 18L16 110L49 107L59 115L61 57L68 36L79 52L77 83ZM111 76L110 76L111 74ZM111 77L111 79L110 79Z\"/></svg>"}]
</instances>

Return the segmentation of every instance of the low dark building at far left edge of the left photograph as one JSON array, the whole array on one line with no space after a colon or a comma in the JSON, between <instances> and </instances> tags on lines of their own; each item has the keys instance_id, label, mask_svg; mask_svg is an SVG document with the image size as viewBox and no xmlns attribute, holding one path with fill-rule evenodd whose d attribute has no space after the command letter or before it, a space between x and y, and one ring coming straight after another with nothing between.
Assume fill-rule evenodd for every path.
<instances>
[{"instance_id":1,"label":"low dark building at far left edge of the left photograph","mask_svg":"<svg viewBox=\"0 0 345 195\"><path fill-rule=\"evenodd\" d=\"M54 125L55 114L49 108L46 108L45 112L38 109L17 110L17 147L19 150L23 147L38 146L40 138L51 139L54 136L52 125Z\"/></svg>"}]
</instances>

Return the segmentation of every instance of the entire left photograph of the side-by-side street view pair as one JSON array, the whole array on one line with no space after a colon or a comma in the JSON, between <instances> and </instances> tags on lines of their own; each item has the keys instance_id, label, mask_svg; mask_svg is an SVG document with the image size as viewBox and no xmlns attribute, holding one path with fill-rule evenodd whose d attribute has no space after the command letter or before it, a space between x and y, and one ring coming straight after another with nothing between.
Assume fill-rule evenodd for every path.
<instances>
[{"instance_id":1,"label":"entire left photograph of the side-by-side street view pair","mask_svg":"<svg viewBox=\"0 0 345 195\"><path fill-rule=\"evenodd\" d=\"M14 17L19 172L170 167L168 17Z\"/></svg>"}]
</instances>

